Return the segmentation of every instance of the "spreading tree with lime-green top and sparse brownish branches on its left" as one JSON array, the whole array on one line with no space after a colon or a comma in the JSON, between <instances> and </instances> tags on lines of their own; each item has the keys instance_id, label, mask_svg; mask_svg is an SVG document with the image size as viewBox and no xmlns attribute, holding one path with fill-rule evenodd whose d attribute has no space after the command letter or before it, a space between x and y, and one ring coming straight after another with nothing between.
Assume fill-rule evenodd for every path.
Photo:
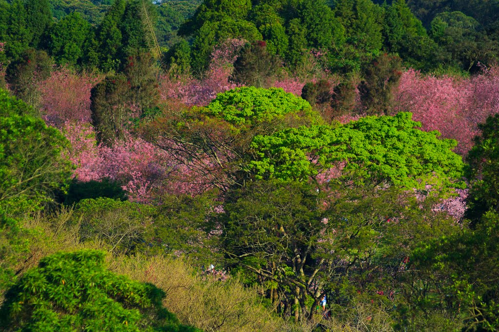
<instances>
[{"instance_id":1,"label":"spreading tree with lime-green top and sparse brownish branches on its left","mask_svg":"<svg viewBox=\"0 0 499 332\"><path fill-rule=\"evenodd\" d=\"M219 94L206 108L164 114L145 123L140 136L199 174L201 183L223 191L244 185L255 135L320 123L308 102L278 88L237 88Z\"/></svg>"}]
</instances>

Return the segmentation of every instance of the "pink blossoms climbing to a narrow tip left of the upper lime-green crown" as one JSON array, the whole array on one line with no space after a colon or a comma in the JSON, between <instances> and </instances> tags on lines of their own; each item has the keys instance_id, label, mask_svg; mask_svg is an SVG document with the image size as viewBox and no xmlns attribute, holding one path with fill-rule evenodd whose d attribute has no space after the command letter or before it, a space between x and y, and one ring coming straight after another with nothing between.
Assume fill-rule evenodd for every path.
<instances>
[{"instance_id":1,"label":"pink blossoms climbing to a narrow tip left of the upper lime-green crown","mask_svg":"<svg viewBox=\"0 0 499 332\"><path fill-rule=\"evenodd\" d=\"M217 45L212 53L208 70L201 79L192 76L161 78L161 97L178 99L189 106L206 106L217 94L237 87L231 82L239 50L246 44L243 39L228 39Z\"/></svg>"}]
</instances>

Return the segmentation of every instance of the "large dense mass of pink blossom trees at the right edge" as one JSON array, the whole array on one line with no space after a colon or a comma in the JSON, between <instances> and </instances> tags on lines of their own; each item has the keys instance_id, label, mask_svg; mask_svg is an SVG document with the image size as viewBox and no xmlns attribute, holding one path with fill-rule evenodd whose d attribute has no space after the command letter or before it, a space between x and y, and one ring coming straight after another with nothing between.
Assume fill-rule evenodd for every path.
<instances>
[{"instance_id":1,"label":"large dense mass of pink blossom trees at the right edge","mask_svg":"<svg viewBox=\"0 0 499 332\"><path fill-rule=\"evenodd\" d=\"M424 76L410 69L402 75L395 102L396 111L412 112L424 130L458 140L456 152L466 155L478 123L499 112L499 68L471 78Z\"/></svg>"}]
</instances>

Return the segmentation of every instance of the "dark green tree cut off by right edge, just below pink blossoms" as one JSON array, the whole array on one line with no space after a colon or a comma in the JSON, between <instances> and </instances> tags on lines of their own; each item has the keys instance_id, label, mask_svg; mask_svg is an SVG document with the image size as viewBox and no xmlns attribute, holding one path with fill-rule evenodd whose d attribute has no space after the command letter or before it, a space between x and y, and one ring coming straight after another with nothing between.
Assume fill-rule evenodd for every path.
<instances>
[{"instance_id":1,"label":"dark green tree cut off by right edge, just below pink blossoms","mask_svg":"<svg viewBox=\"0 0 499 332\"><path fill-rule=\"evenodd\" d=\"M479 125L481 135L468 154L466 177L471 184L472 211L480 218L480 210L499 212L499 115ZM475 211L476 210L476 211Z\"/></svg>"}]
</instances>

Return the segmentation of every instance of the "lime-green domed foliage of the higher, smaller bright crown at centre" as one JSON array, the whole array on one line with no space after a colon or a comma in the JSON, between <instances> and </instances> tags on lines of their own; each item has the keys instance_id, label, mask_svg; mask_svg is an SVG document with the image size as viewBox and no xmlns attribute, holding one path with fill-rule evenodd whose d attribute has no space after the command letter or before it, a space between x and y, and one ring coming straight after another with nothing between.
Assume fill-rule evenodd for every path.
<instances>
[{"instance_id":1,"label":"lime-green domed foliage of the higher, smaller bright crown at centre","mask_svg":"<svg viewBox=\"0 0 499 332\"><path fill-rule=\"evenodd\" d=\"M256 126L272 122L285 115L317 116L305 100L286 93L281 88L236 88L219 94L203 111L236 126Z\"/></svg>"}]
</instances>

